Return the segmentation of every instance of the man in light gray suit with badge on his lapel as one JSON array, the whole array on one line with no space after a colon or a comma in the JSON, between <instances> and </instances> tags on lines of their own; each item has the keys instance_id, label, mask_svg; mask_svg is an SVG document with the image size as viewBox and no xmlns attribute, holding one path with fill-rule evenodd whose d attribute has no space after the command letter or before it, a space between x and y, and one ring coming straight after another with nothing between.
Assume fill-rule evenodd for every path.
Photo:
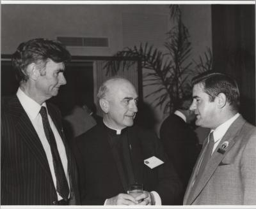
<instances>
[{"instance_id":1,"label":"man in light gray suit with badge on his lapel","mask_svg":"<svg viewBox=\"0 0 256 209\"><path fill-rule=\"evenodd\" d=\"M238 113L239 89L222 73L193 83L196 125L209 127L189 180L184 205L256 205L256 128Z\"/></svg>"}]
</instances>

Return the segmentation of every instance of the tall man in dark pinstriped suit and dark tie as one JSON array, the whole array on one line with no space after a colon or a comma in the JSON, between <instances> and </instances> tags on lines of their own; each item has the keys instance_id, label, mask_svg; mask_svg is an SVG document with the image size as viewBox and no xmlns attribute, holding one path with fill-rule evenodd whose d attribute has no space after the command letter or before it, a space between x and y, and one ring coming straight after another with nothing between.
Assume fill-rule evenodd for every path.
<instances>
[{"instance_id":1,"label":"tall man in dark pinstriped suit and dark tie","mask_svg":"<svg viewBox=\"0 0 256 209\"><path fill-rule=\"evenodd\" d=\"M21 43L12 63L20 87L1 104L1 205L79 204L74 158L56 96L69 52L38 38Z\"/></svg>"}]
</instances>

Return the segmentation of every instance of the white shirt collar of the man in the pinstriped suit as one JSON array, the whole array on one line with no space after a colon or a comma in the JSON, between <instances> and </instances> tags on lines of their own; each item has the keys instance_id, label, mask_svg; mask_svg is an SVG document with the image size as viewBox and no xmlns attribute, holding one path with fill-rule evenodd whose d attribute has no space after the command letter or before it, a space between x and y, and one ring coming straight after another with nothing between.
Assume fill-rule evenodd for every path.
<instances>
[{"instance_id":1,"label":"white shirt collar of the man in the pinstriped suit","mask_svg":"<svg viewBox=\"0 0 256 209\"><path fill-rule=\"evenodd\" d=\"M41 109L41 105L31 99L31 97L25 94L20 88L17 91L17 97L19 98L20 104L24 108L25 112L29 115L29 118L35 119ZM45 106L46 108L45 103L43 103L42 106Z\"/></svg>"}]
</instances>

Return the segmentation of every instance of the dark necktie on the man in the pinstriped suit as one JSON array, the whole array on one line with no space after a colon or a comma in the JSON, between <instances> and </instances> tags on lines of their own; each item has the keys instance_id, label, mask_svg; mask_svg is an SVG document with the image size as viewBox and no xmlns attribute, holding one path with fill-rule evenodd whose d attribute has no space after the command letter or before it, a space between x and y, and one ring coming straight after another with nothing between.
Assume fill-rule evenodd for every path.
<instances>
[{"instance_id":1,"label":"dark necktie on the man in the pinstriped suit","mask_svg":"<svg viewBox=\"0 0 256 209\"><path fill-rule=\"evenodd\" d=\"M56 140L55 140L54 134L52 133L51 126L49 124L46 108L44 106L42 106L39 113L42 116L45 136L46 136L46 138L49 142L49 145L51 147L54 173L56 175L56 187L57 187L56 190L63 199L67 200L68 194L69 194L68 182L67 182L67 178L65 176L65 172L64 172L62 163L61 163L60 154L58 152Z\"/></svg>"}]
</instances>

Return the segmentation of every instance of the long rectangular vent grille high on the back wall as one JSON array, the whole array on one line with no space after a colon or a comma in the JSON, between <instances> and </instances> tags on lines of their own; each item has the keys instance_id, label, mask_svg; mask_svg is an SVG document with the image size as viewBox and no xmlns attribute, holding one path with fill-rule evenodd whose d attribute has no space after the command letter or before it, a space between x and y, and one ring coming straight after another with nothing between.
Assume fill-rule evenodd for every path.
<instances>
[{"instance_id":1,"label":"long rectangular vent grille high on the back wall","mask_svg":"<svg viewBox=\"0 0 256 209\"><path fill-rule=\"evenodd\" d=\"M67 47L108 47L108 38L58 36L57 40Z\"/></svg>"}]
</instances>

